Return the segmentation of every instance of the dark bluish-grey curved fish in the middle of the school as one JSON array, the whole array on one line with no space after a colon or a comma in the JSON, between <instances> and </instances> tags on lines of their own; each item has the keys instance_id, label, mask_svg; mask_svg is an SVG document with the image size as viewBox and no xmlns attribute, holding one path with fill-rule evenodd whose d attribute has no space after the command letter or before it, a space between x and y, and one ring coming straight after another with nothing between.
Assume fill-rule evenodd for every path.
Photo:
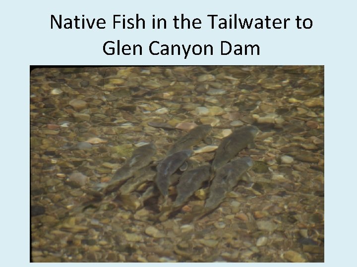
<instances>
[{"instance_id":1,"label":"dark bluish-grey curved fish in the middle of the school","mask_svg":"<svg viewBox=\"0 0 357 267\"><path fill-rule=\"evenodd\" d=\"M170 176L173 175L192 154L192 150L175 152L174 154L167 156L157 165L155 183L165 199L169 195Z\"/></svg>"}]
</instances>

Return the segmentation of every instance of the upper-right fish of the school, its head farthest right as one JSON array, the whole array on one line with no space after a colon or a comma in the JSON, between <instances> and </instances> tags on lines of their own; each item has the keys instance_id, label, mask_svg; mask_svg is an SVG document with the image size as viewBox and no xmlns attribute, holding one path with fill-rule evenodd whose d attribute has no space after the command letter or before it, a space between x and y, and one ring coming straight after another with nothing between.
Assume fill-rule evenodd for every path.
<instances>
[{"instance_id":1,"label":"upper-right fish of the school, its head farthest right","mask_svg":"<svg viewBox=\"0 0 357 267\"><path fill-rule=\"evenodd\" d=\"M215 173L236 157L240 150L254 145L254 137L258 132L255 126L245 126L236 129L232 134L224 137L216 150L212 162L211 172Z\"/></svg>"}]
</instances>

